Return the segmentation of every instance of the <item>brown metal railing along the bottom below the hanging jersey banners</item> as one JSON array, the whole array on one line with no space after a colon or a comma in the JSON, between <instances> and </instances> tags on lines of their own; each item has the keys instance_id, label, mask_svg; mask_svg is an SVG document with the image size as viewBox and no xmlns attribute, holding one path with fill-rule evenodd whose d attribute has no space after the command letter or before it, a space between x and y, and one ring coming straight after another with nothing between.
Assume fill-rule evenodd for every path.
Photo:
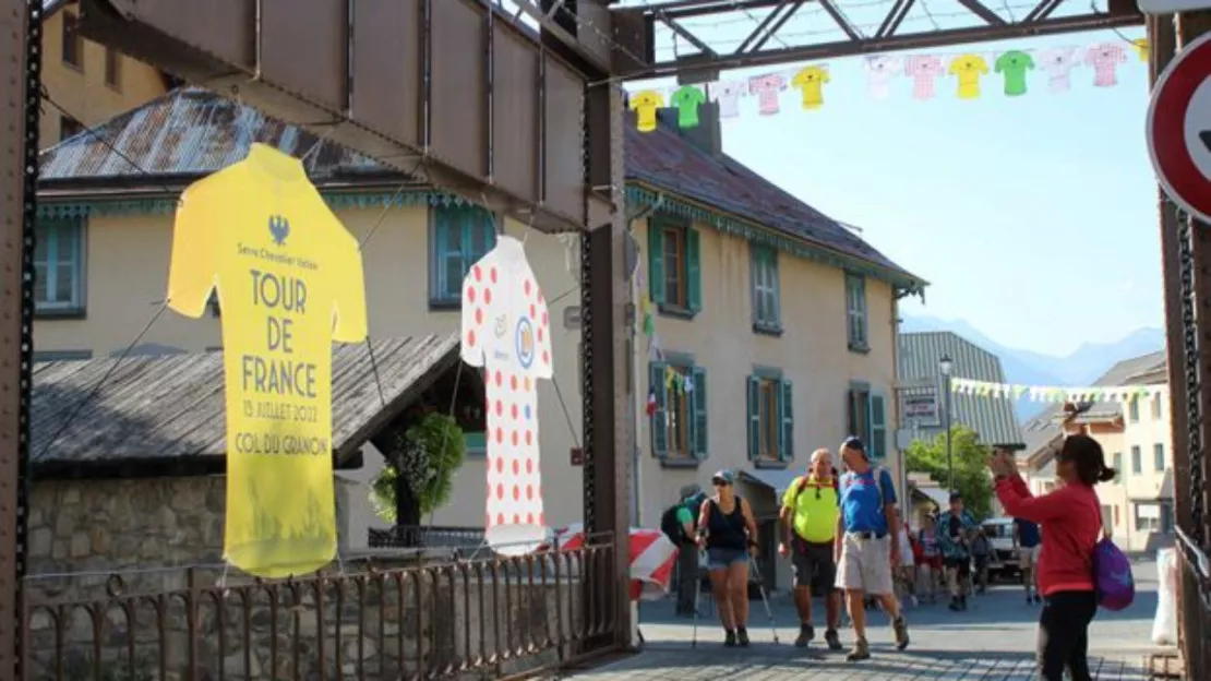
<instances>
[{"instance_id":1,"label":"brown metal railing along the bottom below the hanging jersey banners","mask_svg":"<svg viewBox=\"0 0 1211 681\"><path fill-rule=\"evenodd\" d=\"M609 536L357 574L23 603L27 680L440 679L555 668L610 639Z\"/></svg>"}]
</instances>

